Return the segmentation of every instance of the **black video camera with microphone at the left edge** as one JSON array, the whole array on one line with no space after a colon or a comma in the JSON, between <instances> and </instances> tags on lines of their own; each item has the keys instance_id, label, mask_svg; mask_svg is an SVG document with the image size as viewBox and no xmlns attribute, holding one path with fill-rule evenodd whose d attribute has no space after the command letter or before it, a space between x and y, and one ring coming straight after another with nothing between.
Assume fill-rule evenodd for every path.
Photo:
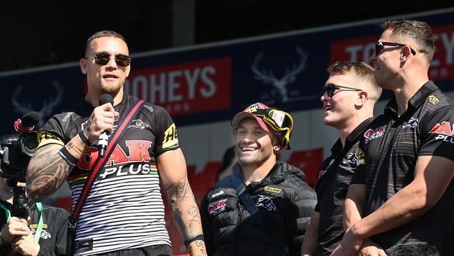
<instances>
[{"instance_id":1,"label":"black video camera with microphone at the left edge","mask_svg":"<svg viewBox=\"0 0 454 256\"><path fill-rule=\"evenodd\" d=\"M6 183L13 190L13 208L11 215L27 220L29 206L25 187L17 183L25 183L27 166L38 148L38 134L32 131L39 122L39 114L30 112L15 122L15 130L19 134L3 136L0 141L0 175L6 178Z\"/></svg>"}]
</instances>

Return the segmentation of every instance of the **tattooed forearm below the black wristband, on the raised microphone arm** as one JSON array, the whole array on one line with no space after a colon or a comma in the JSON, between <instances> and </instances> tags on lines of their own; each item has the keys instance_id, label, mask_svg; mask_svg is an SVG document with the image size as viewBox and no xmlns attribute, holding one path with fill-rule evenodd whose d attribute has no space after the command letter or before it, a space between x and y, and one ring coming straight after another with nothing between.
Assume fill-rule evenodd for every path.
<instances>
[{"instance_id":1,"label":"tattooed forearm below the black wristband, on the raised microphone arm","mask_svg":"<svg viewBox=\"0 0 454 256\"><path fill-rule=\"evenodd\" d=\"M27 169L27 190L34 201L42 201L59 189L72 167L58 154L60 147L36 151Z\"/></svg>"}]
</instances>

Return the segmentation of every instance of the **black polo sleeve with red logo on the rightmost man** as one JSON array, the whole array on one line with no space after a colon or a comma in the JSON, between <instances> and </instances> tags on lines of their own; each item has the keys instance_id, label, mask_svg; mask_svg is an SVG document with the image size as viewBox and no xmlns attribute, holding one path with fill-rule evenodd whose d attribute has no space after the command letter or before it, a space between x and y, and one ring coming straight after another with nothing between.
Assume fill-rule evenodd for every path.
<instances>
[{"instance_id":1,"label":"black polo sleeve with red logo on the rightmost man","mask_svg":"<svg viewBox=\"0 0 454 256\"><path fill-rule=\"evenodd\" d=\"M454 107L439 108L422 125L418 155L434 155L454 161Z\"/></svg>"}]
</instances>

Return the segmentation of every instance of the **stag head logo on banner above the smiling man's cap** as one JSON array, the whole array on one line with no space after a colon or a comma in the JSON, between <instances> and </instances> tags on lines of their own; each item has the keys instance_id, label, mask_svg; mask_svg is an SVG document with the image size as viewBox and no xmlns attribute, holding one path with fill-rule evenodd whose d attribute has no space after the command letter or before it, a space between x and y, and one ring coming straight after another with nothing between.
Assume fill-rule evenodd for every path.
<instances>
[{"instance_id":1,"label":"stag head logo on banner above the smiling man's cap","mask_svg":"<svg viewBox=\"0 0 454 256\"><path fill-rule=\"evenodd\" d=\"M262 81L265 84L271 85L274 89L274 92L272 92L272 94L276 94L277 92L277 97L279 97L278 99L281 99L281 101L284 102L288 101L287 85L293 83L295 81L296 75L306 69L307 54L299 47L296 48L296 51L300 55L300 63L298 65L293 64L291 69L287 67L282 78L276 78L272 71L267 71L265 69L263 69L262 71L258 70L258 62L263 58L263 52L260 52L258 53L258 55L256 55L254 63L251 65L252 72L254 72L254 78L256 78L256 80Z\"/></svg>"}]
</instances>

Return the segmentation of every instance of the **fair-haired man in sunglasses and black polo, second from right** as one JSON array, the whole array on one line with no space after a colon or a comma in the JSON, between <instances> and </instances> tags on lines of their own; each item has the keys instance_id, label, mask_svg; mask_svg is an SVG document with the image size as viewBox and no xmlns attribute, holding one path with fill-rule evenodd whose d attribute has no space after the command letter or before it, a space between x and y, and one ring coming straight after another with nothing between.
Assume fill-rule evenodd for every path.
<instances>
[{"instance_id":1,"label":"fair-haired man in sunglasses and black polo, second from right","mask_svg":"<svg viewBox=\"0 0 454 256\"><path fill-rule=\"evenodd\" d=\"M381 95L374 69L364 62L336 62L322 87L325 125L339 131L318 173L318 202L302 243L302 255L330 255L342 239L344 199L358 161L358 141Z\"/></svg>"}]
</instances>

